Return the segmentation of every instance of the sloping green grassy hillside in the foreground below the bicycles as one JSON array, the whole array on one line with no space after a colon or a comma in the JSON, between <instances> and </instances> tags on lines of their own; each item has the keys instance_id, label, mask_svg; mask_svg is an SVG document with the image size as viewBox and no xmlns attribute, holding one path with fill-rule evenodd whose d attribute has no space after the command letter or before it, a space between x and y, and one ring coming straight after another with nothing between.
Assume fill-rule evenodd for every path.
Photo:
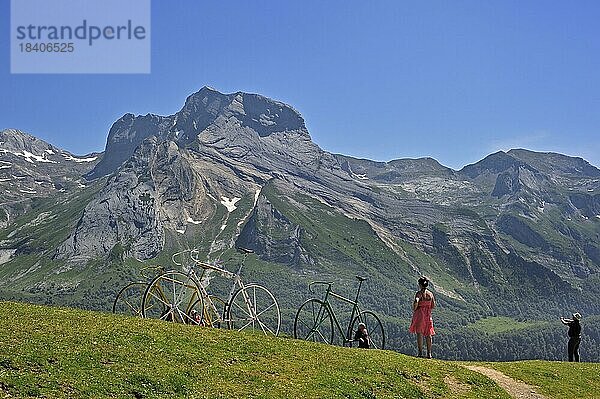
<instances>
[{"instance_id":1,"label":"sloping green grassy hillside in the foreground below the bicycles","mask_svg":"<svg viewBox=\"0 0 600 399\"><path fill-rule=\"evenodd\" d=\"M509 398L460 363L389 351L11 302L0 323L2 397ZM548 397L600 391L597 365L533 365L546 374L498 366Z\"/></svg>"}]
</instances>

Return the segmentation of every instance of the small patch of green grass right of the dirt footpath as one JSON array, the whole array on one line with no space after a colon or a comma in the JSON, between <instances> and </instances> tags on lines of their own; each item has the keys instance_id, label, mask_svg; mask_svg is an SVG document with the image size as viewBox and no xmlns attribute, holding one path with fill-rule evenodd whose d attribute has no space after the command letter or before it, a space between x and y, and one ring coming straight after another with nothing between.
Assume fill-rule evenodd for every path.
<instances>
[{"instance_id":1,"label":"small patch of green grass right of the dirt footpath","mask_svg":"<svg viewBox=\"0 0 600 399\"><path fill-rule=\"evenodd\" d=\"M538 392L549 398L593 399L600 395L600 364L598 363L531 360L486 363L485 366L538 386Z\"/></svg>"}]
</instances>

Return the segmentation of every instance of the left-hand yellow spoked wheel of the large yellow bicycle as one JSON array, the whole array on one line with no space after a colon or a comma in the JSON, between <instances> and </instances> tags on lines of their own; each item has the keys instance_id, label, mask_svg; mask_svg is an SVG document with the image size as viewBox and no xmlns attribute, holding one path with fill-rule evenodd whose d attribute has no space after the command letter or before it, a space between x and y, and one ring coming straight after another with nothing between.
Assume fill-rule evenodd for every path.
<instances>
[{"instance_id":1,"label":"left-hand yellow spoked wheel of the large yellow bicycle","mask_svg":"<svg viewBox=\"0 0 600 399\"><path fill-rule=\"evenodd\" d=\"M196 324L192 306L200 301L200 287L189 275L169 271L150 282L142 300L142 315L174 323ZM202 306L198 306L202 309Z\"/></svg>"}]
</instances>

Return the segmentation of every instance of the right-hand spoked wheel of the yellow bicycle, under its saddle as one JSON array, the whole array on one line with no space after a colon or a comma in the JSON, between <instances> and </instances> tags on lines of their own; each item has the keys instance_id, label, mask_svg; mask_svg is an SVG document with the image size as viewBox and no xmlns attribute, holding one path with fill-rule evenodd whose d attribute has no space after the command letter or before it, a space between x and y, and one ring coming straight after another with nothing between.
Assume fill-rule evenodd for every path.
<instances>
[{"instance_id":1,"label":"right-hand spoked wheel of the yellow bicycle, under its saddle","mask_svg":"<svg viewBox=\"0 0 600 399\"><path fill-rule=\"evenodd\" d=\"M277 336L281 312L275 296L268 289L249 284L231 297L227 306L227 323L232 330L252 329Z\"/></svg>"}]
</instances>

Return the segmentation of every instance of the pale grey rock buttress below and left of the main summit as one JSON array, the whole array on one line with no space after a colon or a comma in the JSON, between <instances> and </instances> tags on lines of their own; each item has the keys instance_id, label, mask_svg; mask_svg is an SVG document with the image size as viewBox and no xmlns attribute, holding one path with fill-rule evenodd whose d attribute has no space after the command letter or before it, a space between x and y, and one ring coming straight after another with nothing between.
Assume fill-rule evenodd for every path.
<instances>
[{"instance_id":1,"label":"pale grey rock buttress below and left of the main summit","mask_svg":"<svg viewBox=\"0 0 600 399\"><path fill-rule=\"evenodd\" d=\"M156 256L165 227L177 228L186 219L196 184L176 143L149 138L88 204L57 256L91 259L114 251L138 259Z\"/></svg>"}]
</instances>

